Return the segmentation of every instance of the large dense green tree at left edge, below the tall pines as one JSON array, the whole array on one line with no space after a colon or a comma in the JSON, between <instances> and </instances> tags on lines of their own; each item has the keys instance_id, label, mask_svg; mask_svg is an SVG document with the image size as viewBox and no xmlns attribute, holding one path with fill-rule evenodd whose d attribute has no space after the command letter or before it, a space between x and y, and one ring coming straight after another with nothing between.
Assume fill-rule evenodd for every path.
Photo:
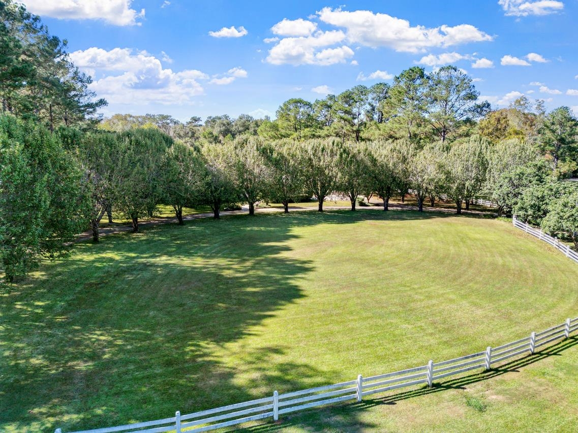
<instances>
[{"instance_id":1,"label":"large dense green tree at left edge, below the tall pines","mask_svg":"<svg viewBox=\"0 0 578 433\"><path fill-rule=\"evenodd\" d=\"M87 226L90 184L42 126L2 116L0 143L0 257L13 281Z\"/></svg>"}]
</instances>

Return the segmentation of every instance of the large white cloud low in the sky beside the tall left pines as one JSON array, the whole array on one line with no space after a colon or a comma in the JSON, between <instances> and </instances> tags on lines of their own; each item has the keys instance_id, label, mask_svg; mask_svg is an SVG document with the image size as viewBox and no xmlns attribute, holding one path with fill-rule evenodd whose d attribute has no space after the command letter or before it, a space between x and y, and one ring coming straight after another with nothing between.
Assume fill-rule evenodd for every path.
<instances>
[{"instance_id":1,"label":"large white cloud low in the sky beside the tall left pines","mask_svg":"<svg viewBox=\"0 0 578 433\"><path fill-rule=\"evenodd\" d=\"M98 73L90 87L111 104L192 103L195 96L204 94L200 81L209 80L209 75L200 70L165 69L154 55L131 48L107 51L92 47L71 53L71 59L81 70ZM213 76L209 83L229 84L246 76L246 70L236 67Z\"/></svg>"}]
</instances>

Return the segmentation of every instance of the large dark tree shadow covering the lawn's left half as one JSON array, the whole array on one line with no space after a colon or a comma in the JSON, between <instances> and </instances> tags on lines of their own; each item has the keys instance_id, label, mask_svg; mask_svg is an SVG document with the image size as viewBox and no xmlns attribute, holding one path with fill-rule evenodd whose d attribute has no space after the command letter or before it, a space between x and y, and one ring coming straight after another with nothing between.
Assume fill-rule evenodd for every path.
<instances>
[{"instance_id":1,"label":"large dark tree shadow covering the lawn's left half","mask_svg":"<svg viewBox=\"0 0 578 433\"><path fill-rule=\"evenodd\" d=\"M242 381L221 359L227 344L304 296L295 277L312 263L284 256L284 242L317 224L451 216L240 215L78 244L71 257L2 293L0 430L105 427L325 385L339 372L269 362L291 350L281 342L247 349Z\"/></svg>"}]
</instances>

